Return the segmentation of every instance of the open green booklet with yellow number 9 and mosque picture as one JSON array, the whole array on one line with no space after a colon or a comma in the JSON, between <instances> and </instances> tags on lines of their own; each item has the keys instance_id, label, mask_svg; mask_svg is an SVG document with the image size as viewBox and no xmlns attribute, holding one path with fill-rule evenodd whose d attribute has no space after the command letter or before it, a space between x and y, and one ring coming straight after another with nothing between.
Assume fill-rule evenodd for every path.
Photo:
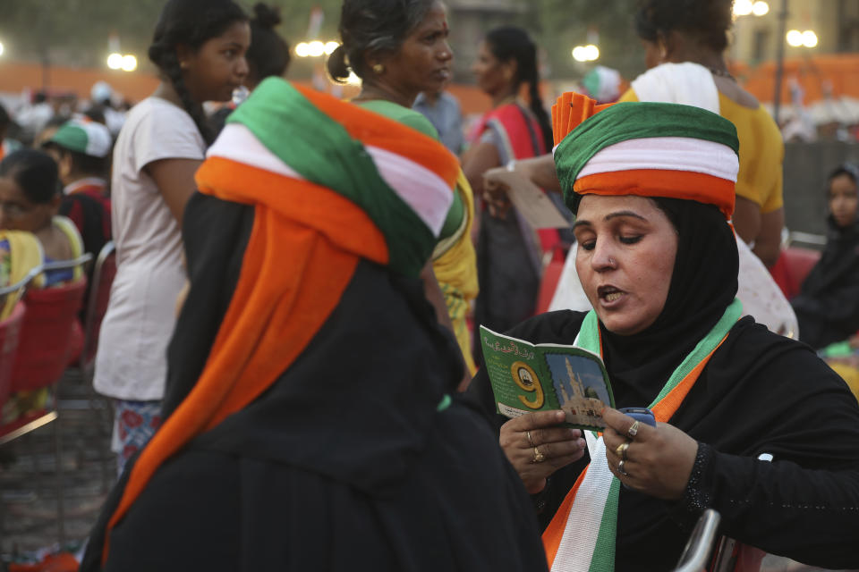
<instances>
[{"instance_id":1,"label":"open green booklet with yellow number 9 and mosque picture","mask_svg":"<svg viewBox=\"0 0 859 572\"><path fill-rule=\"evenodd\" d=\"M498 413L518 417L563 409L566 425L599 431L600 412L615 407L600 356L553 343L534 345L481 326L483 362Z\"/></svg>"}]
</instances>

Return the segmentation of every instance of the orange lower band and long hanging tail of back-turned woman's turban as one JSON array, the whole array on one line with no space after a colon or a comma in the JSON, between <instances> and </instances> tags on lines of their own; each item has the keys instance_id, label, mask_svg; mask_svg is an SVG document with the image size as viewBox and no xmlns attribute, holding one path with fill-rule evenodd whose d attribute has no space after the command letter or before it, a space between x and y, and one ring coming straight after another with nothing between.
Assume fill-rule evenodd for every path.
<instances>
[{"instance_id":1,"label":"orange lower band and long hanging tail of back-turned woman's turban","mask_svg":"<svg viewBox=\"0 0 859 572\"><path fill-rule=\"evenodd\" d=\"M256 205L251 238L200 379L132 468L107 525L103 563L110 529L157 468L284 373L339 303L361 257L387 262L381 231L333 190L217 157L200 167L197 183L204 194Z\"/></svg>"}]
</instances>

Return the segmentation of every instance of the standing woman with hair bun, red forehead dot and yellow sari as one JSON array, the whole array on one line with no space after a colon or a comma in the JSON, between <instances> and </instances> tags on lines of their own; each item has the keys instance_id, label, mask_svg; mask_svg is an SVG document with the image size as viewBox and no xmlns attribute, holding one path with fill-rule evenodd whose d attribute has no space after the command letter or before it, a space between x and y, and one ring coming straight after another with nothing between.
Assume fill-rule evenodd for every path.
<instances>
[{"instance_id":1,"label":"standing woman with hair bun, red forehead dot and yellow sari","mask_svg":"<svg viewBox=\"0 0 859 572\"><path fill-rule=\"evenodd\" d=\"M353 72L361 93L353 103L438 140L438 131L412 110L421 91L439 91L450 80L453 52L447 44L447 11L438 0L344 0L340 14L343 40L328 58L332 79L345 82ZM425 173L412 172L415 181ZM415 192L421 193L421 187ZM438 321L451 329L463 350L463 383L476 371L466 315L477 296L477 268L471 230L472 189L463 172L447 212L432 259L423 269L427 298Z\"/></svg>"}]
</instances>

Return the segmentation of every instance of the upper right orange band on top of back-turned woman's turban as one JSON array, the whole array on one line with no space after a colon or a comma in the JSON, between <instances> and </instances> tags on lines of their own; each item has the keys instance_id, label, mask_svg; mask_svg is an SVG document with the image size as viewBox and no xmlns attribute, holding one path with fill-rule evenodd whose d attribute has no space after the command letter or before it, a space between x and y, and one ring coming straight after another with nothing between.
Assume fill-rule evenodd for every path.
<instances>
[{"instance_id":1,"label":"upper right orange band on top of back-turned woman's turban","mask_svg":"<svg viewBox=\"0 0 859 572\"><path fill-rule=\"evenodd\" d=\"M342 101L315 89L294 85L311 104L340 123L353 139L364 145L380 147L435 172L453 189L459 176L459 160L451 153L439 153L438 141L400 122L375 114L358 105ZM404 141L408 141L404 145Z\"/></svg>"}]
</instances>

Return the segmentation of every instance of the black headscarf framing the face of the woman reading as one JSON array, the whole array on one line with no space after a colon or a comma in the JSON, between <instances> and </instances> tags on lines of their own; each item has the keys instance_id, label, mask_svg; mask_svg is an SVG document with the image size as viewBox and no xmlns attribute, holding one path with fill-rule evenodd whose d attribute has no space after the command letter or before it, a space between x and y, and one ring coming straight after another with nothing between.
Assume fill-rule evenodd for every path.
<instances>
[{"instance_id":1,"label":"black headscarf framing the face of the woman reading","mask_svg":"<svg viewBox=\"0 0 859 572\"><path fill-rule=\"evenodd\" d=\"M647 407L668 377L710 332L736 296L734 232L719 208L678 198L652 199L677 231L665 307L642 332L622 336L600 323L603 359L617 407Z\"/></svg>"}]
</instances>

